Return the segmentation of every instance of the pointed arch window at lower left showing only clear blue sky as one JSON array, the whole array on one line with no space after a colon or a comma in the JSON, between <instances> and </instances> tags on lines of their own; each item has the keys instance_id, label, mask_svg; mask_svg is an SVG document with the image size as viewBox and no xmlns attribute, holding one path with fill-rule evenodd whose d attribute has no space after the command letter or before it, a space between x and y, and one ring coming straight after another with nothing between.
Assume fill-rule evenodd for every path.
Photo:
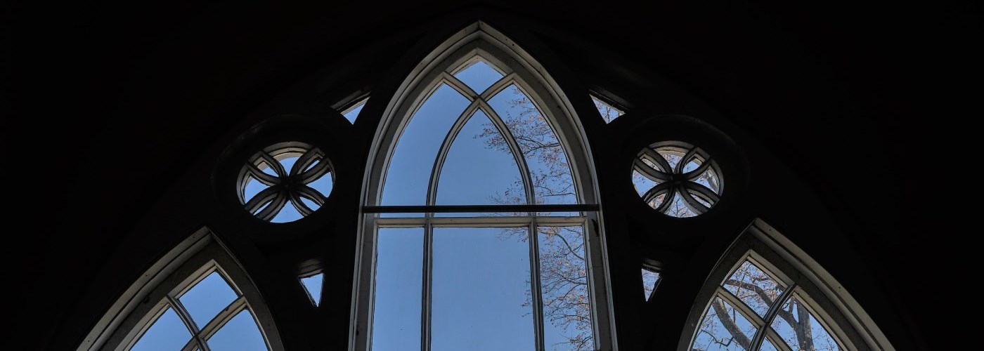
<instances>
[{"instance_id":1,"label":"pointed arch window at lower left showing only clear blue sky","mask_svg":"<svg viewBox=\"0 0 984 351\"><path fill-rule=\"evenodd\" d=\"M282 350L245 270L209 229L165 254L96 323L78 350Z\"/></svg>"}]
</instances>

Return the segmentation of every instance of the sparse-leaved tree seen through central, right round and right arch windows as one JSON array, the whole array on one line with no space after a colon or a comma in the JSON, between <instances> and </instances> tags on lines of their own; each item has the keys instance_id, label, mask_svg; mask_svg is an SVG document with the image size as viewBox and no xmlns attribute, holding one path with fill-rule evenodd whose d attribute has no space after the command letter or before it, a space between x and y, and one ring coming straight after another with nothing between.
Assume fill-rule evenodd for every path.
<instances>
[{"instance_id":1,"label":"sparse-leaved tree seen through central, right round and right arch windows","mask_svg":"<svg viewBox=\"0 0 984 351\"><path fill-rule=\"evenodd\" d=\"M508 111L500 112L500 117L508 131L500 131L492 124L486 124L483 132L474 136L482 139L486 147L512 152L504 134L510 133L519 144L523 159L530 172L534 204L574 204L575 186L567 155L553 128L540 110L522 90L512 86L513 94L509 100ZM505 92L505 91L504 91ZM618 117L620 111L610 106L598 104L599 113L610 122ZM666 154L668 162L678 162L679 155ZM717 175L706 173L698 180L701 184L717 192ZM523 180L516 179L513 185L501 194L492 196L496 204L518 205L526 202ZM658 202L665 199L657 199ZM667 214L690 216L690 209L682 201L670 199ZM549 215L550 213L537 213ZM526 215L526 213L504 213L502 215ZM587 271L584 257L584 229L582 227L538 227L538 250L540 255L540 294L543 301L544 322L550 322L565 332L564 341L546 345L573 350L590 350L593 347L591 331L591 307L587 294ZM529 240L527 228L502 228L503 238ZM740 266L722 285L729 293L749 305L754 311L765 316L769 307L782 294L784 287L772 279L765 270L747 263ZM531 304L533 294L526 293L526 304ZM780 336L780 340L770 340L787 345L792 350L828 351L838 350L837 344L827 330L816 322L802 302L790 297L782 302L770 326ZM743 326L745 330L743 330ZM819 327L819 329L818 329ZM756 326L740 316L739 312L720 298L715 298L707 309L698 330L699 338L695 350L711 348L725 350L748 350L753 346L752 338ZM817 335L816 330L822 330ZM782 345L780 345L781 347Z\"/></svg>"}]
</instances>

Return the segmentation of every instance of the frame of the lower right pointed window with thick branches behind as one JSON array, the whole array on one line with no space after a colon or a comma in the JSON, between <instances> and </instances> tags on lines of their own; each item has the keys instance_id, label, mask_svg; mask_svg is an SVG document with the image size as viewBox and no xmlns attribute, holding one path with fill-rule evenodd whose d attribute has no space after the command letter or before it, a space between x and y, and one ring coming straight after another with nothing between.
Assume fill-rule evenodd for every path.
<instances>
[{"instance_id":1,"label":"frame of the lower right pointed window with thick branches behind","mask_svg":"<svg viewBox=\"0 0 984 351\"><path fill-rule=\"evenodd\" d=\"M765 321L721 286L745 261L766 269L773 279L786 286ZM830 272L761 218L756 218L715 264L691 308L677 349L691 350L707 309L715 298L721 297L758 327L752 344L757 350L767 336L777 336L769 325L775 318L775 310L790 296L795 296L823 324L841 349L894 350L878 325Z\"/></svg>"}]
</instances>

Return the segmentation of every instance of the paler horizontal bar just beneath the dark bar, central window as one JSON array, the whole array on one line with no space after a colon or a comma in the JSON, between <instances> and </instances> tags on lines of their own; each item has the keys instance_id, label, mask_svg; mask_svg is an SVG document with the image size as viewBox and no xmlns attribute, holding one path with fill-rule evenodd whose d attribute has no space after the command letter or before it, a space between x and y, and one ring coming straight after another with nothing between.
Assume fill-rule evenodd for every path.
<instances>
[{"instance_id":1,"label":"paler horizontal bar just beneath the dark bar, central window","mask_svg":"<svg viewBox=\"0 0 984 351\"><path fill-rule=\"evenodd\" d=\"M376 224L383 228L419 227L428 222L437 227L522 227L533 220L539 226L571 226L584 224L581 216L544 217L404 217L376 218Z\"/></svg>"}]
</instances>

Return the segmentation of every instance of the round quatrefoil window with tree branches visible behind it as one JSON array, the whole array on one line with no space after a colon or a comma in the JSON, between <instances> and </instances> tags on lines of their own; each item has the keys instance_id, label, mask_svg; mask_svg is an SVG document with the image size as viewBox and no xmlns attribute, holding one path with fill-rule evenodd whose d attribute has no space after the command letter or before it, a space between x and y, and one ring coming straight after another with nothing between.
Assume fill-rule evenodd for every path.
<instances>
[{"instance_id":1,"label":"round quatrefoil window with tree branches visible behind it","mask_svg":"<svg viewBox=\"0 0 984 351\"><path fill-rule=\"evenodd\" d=\"M721 171L706 151L683 142L643 148L632 167L632 182L646 205L674 217L707 212L721 195Z\"/></svg>"}]
</instances>

